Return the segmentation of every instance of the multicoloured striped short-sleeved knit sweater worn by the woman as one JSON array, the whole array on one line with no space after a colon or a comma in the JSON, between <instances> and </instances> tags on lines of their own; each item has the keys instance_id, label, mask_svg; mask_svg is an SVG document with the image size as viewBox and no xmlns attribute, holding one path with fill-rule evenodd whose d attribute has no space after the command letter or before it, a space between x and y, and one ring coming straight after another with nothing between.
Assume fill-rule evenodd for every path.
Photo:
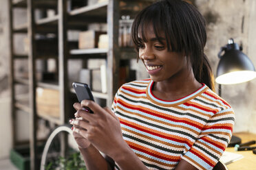
<instances>
[{"instance_id":1,"label":"multicoloured striped short-sleeved knit sweater worn by the woman","mask_svg":"<svg viewBox=\"0 0 256 170\"><path fill-rule=\"evenodd\" d=\"M231 106L205 84L175 101L158 99L152 86L150 79L130 82L114 98L112 110L129 147L149 169L175 169L181 159L213 169L231 139Z\"/></svg>"}]
</instances>

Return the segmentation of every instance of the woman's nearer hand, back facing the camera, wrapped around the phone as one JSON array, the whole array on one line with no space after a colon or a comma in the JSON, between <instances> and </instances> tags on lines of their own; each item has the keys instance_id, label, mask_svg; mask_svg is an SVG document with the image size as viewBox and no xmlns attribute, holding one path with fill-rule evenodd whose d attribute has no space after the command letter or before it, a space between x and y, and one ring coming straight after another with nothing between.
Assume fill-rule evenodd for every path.
<instances>
[{"instance_id":1,"label":"woman's nearer hand, back facing the camera, wrapped around the phone","mask_svg":"<svg viewBox=\"0 0 256 170\"><path fill-rule=\"evenodd\" d=\"M82 117L83 120L72 121L74 132L111 158L117 156L123 147L127 147L127 143L122 138L119 120L109 108L101 108L94 101L89 100L83 100L81 106L90 108L94 113L78 110L75 116Z\"/></svg>"}]
</instances>

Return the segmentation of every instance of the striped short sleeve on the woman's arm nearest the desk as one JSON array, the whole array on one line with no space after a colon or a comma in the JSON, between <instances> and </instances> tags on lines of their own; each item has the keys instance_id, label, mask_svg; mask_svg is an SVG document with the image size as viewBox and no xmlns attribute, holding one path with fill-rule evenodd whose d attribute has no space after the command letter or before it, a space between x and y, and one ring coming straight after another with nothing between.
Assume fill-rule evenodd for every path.
<instances>
[{"instance_id":1,"label":"striped short sleeve on the woman's arm nearest the desk","mask_svg":"<svg viewBox=\"0 0 256 170\"><path fill-rule=\"evenodd\" d=\"M232 108L214 114L182 159L198 169L213 169L231 140L234 123Z\"/></svg>"}]
</instances>

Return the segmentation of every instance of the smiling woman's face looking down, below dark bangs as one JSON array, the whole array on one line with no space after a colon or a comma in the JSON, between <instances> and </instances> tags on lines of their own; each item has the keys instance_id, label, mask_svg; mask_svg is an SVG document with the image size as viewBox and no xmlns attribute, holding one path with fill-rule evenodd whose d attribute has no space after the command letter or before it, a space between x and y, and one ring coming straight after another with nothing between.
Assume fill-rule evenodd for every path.
<instances>
[{"instance_id":1,"label":"smiling woman's face looking down, below dark bangs","mask_svg":"<svg viewBox=\"0 0 256 170\"><path fill-rule=\"evenodd\" d=\"M153 27L149 27L145 32L145 38L147 42L142 42L140 45L139 57L145 64L151 80L154 82L177 80L178 77L186 76L191 71L183 53L168 51L164 34L160 35L162 40L160 43L153 32Z\"/></svg>"}]
</instances>

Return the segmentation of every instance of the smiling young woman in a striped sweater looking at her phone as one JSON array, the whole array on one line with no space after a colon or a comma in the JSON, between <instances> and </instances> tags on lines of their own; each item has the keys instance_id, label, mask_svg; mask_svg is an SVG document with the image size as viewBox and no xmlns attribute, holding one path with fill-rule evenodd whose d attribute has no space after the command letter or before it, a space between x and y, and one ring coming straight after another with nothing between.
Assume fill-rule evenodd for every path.
<instances>
[{"instance_id":1,"label":"smiling young woman in a striped sweater looking at her phone","mask_svg":"<svg viewBox=\"0 0 256 170\"><path fill-rule=\"evenodd\" d=\"M234 112L212 91L202 15L185 1L158 1L138 14L132 38L150 79L122 85L111 110L74 104L71 124L87 169L213 169Z\"/></svg>"}]
</instances>

